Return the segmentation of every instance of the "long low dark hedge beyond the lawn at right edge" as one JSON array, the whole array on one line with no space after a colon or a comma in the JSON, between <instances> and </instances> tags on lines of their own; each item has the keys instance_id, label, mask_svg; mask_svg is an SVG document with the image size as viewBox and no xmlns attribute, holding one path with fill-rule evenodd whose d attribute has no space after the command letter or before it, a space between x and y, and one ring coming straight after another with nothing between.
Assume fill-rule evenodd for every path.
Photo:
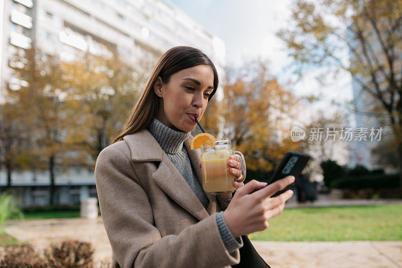
<instances>
[{"instance_id":1,"label":"long low dark hedge beyond the lawn at right edge","mask_svg":"<svg viewBox=\"0 0 402 268\"><path fill-rule=\"evenodd\" d=\"M400 187L400 176L399 174L385 175L385 174L367 174L353 177L338 178L331 184L332 188L335 189L366 189L371 188L374 190L378 189L389 189L389 188L399 188Z\"/></svg>"}]
</instances>

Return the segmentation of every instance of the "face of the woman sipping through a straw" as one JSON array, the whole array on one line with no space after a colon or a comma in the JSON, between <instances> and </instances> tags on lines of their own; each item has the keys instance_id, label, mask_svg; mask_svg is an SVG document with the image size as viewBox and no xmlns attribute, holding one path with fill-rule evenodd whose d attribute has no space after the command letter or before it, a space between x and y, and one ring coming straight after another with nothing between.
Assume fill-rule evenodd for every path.
<instances>
[{"instance_id":1,"label":"face of the woman sipping through a straw","mask_svg":"<svg viewBox=\"0 0 402 268\"><path fill-rule=\"evenodd\" d=\"M162 79L154 84L154 92L160 97L156 118L174 130L192 131L194 117L199 121L214 90L214 72L209 65L197 65L178 71L168 83Z\"/></svg>"}]
</instances>

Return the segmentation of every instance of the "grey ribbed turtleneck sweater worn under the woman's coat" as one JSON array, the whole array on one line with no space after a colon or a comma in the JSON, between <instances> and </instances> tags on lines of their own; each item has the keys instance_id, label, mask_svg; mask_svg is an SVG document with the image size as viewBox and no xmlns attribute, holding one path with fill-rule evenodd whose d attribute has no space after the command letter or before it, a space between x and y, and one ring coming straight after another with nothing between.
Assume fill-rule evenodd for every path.
<instances>
[{"instance_id":1,"label":"grey ribbed turtleneck sweater worn under the woman's coat","mask_svg":"<svg viewBox=\"0 0 402 268\"><path fill-rule=\"evenodd\" d=\"M207 209L210 201L198 181L195 170L191 165L190 158L188 157L187 149L183 146L184 141L190 136L190 133L170 129L157 119L154 119L147 129L151 132L152 136L154 136L167 157L184 177L191 190L199 199L199 202L201 202L204 208ZM219 195L218 198L224 202L230 202L230 200L221 198ZM230 232L223 218L223 211L219 212L217 215L217 224L222 241L229 252L233 252L237 248L243 246L242 238L234 238Z\"/></svg>"}]
</instances>

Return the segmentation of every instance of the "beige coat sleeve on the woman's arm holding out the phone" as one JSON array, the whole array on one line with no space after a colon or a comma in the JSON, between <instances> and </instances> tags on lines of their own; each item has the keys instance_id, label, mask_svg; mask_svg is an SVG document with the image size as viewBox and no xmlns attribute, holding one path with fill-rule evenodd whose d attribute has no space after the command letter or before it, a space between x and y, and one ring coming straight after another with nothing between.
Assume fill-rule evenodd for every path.
<instances>
[{"instance_id":1,"label":"beige coat sleeve on the woman's arm holding out the phone","mask_svg":"<svg viewBox=\"0 0 402 268\"><path fill-rule=\"evenodd\" d=\"M239 250L229 253L225 248L217 213L178 235L161 237L148 196L118 148L107 147L99 154L95 183L105 229L121 267L221 267L240 262Z\"/></svg>"}]
</instances>

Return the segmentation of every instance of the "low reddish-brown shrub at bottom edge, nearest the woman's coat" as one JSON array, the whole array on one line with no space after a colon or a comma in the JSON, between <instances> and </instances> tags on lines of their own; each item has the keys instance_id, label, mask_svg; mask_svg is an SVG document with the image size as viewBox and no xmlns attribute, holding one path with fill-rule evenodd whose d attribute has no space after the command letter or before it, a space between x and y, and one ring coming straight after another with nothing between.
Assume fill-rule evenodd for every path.
<instances>
[{"instance_id":1,"label":"low reddish-brown shrub at bottom edge, nearest the woman's coat","mask_svg":"<svg viewBox=\"0 0 402 268\"><path fill-rule=\"evenodd\" d=\"M55 243L45 250L47 261L52 267L93 267L91 243L66 240Z\"/></svg>"}]
</instances>

